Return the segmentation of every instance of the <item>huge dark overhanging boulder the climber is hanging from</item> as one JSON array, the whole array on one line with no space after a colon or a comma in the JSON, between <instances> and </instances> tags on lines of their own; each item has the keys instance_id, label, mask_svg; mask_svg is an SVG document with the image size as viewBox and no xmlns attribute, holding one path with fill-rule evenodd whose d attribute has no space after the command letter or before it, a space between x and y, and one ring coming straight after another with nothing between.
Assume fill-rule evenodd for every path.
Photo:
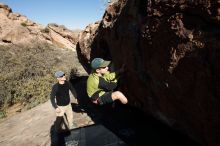
<instances>
[{"instance_id":1,"label":"huge dark overhanging boulder the climber is hanging from","mask_svg":"<svg viewBox=\"0 0 220 146\"><path fill-rule=\"evenodd\" d=\"M84 67L94 57L126 64L120 88L129 104L203 145L220 145L219 0L119 0L77 45Z\"/></svg>"}]
</instances>

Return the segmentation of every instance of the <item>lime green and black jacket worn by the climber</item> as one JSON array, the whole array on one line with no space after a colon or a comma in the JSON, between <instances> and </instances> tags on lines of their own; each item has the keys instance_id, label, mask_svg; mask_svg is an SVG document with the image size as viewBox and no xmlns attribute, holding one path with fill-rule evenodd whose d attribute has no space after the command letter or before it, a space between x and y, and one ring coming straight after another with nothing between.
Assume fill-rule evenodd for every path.
<instances>
[{"instance_id":1,"label":"lime green and black jacket worn by the climber","mask_svg":"<svg viewBox=\"0 0 220 146\"><path fill-rule=\"evenodd\" d=\"M96 100L105 92L113 91L117 87L118 73L107 72L103 76L98 76L93 72L87 80L87 94L92 100Z\"/></svg>"}]
</instances>

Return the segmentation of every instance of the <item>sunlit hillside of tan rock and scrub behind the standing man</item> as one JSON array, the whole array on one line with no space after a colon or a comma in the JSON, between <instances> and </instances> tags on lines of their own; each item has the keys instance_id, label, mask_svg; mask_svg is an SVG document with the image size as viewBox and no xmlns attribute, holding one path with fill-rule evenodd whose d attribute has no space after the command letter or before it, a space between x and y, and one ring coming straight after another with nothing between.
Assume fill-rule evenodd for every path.
<instances>
[{"instance_id":1,"label":"sunlit hillside of tan rock and scrub behind the standing man","mask_svg":"<svg viewBox=\"0 0 220 146\"><path fill-rule=\"evenodd\" d=\"M55 23L44 28L0 3L0 118L47 101L56 70L68 78L85 73L78 33Z\"/></svg>"}]
</instances>

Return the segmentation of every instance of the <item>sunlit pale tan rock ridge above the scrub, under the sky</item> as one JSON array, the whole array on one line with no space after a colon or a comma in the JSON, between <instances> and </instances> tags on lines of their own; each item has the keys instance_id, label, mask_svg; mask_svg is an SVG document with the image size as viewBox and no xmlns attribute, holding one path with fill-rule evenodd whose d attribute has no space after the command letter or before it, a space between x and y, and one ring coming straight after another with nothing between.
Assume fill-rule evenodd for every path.
<instances>
[{"instance_id":1,"label":"sunlit pale tan rock ridge above the scrub, under the sky","mask_svg":"<svg viewBox=\"0 0 220 146\"><path fill-rule=\"evenodd\" d=\"M61 48L75 50L78 32L63 25L48 24L45 28L26 16L13 13L11 8L0 3L0 44L30 44L46 41Z\"/></svg>"}]
</instances>

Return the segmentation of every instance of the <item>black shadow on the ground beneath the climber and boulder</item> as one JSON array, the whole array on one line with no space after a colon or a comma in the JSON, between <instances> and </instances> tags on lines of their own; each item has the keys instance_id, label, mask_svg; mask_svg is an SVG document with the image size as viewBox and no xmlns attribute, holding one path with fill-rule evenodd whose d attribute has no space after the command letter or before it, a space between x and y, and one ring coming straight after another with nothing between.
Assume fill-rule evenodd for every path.
<instances>
[{"instance_id":1,"label":"black shadow on the ground beneath the climber and boulder","mask_svg":"<svg viewBox=\"0 0 220 146\"><path fill-rule=\"evenodd\" d=\"M95 124L59 134L52 125L52 146L200 146L188 136L133 107L118 102L114 108L112 105L94 106L85 92L86 78L72 81L79 97L83 97L78 99L78 106L73 105L73 110L86 112Z\"/></svg>"}]
</instances>

